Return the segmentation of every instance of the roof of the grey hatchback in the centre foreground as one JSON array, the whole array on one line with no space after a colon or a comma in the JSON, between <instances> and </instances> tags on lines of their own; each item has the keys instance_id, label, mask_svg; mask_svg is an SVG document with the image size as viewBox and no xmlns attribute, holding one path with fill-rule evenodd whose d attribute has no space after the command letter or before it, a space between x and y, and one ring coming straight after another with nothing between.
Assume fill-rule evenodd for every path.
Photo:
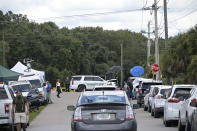
<instances>
[{"instance_id":1,"label":"roof of the grey hatchback in the centre foreground","mask_svg":"<svg viewBox=\"0 0 197 131\"><path fill-rule=\"evenodd\" d=\"M124 96L124 91L85 91L83 92L84 96L94 96L94 95L117 95L117 96Z\"/></svg>"}]
</instances>

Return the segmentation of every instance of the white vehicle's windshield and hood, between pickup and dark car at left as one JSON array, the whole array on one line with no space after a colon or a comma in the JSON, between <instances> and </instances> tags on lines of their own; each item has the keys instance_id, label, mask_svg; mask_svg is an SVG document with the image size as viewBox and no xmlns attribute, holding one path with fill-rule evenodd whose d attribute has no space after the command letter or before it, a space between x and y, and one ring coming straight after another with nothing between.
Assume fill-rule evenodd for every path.
<instances>
[{"instance_id":1,"label":"white vehicle's windshield and hood, between pickup and dark car at left","mask_svg":"<svg viewBox=\"0 0 197 131\"><path fill-rule=\"evenodd\" d=\"M27 94L32 88L31 83L27 80L9 81L8 86L13 90L14 96L16 96L16 91L20 91L24 97L27 97Z\"/></svg>"}]
</instances>

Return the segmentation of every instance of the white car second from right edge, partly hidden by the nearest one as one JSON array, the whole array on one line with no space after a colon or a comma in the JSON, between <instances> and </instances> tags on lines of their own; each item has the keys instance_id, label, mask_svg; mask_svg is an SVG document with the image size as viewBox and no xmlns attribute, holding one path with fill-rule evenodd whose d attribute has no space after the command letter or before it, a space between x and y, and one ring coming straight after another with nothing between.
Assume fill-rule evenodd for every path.
<instances>
[{"instance_id":1,"label":"white car second from right edge, partly hidden by the nearest one","mask_svg":"<svg viewBox=\"0 0 197 131\"><path fill-rule=\"evenodd\" d=\"M191 90L188 99L184 99L179 110L179 131L190 131L192 123L192 114L197 108L197 87ZM197 124L197 123L196 123Z\"/></svg>"}]
</instances>

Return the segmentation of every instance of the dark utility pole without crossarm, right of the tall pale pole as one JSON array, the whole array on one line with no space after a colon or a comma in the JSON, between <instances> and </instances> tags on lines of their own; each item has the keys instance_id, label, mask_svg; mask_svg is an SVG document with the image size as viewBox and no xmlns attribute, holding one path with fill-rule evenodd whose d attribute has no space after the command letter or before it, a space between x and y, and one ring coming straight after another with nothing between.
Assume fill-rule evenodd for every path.
<instances>
[{"instance_id":1,"label":"dark utility pole without crossarm, right of the tall pale pole","mask_svg":"<svg viewBox=\"0 0 197 131\"><path fill-rule=\"evenodd\" d=\"M164 25L165 25L165 48L168 48L168 18L167 18L167 2L164 0Z\"/></svg>"}]
</instances>

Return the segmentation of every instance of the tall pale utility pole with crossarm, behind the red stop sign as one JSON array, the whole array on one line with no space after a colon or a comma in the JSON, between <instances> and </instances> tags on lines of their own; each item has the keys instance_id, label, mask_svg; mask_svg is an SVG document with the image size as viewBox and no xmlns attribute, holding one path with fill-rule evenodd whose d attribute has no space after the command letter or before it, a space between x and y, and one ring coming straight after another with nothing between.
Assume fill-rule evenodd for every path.
<instances>
[{"instance_id":1,"label":"tall pale utility pole with crossarm, behind the red stop sign","mask_svg":"<svg viewBox=\"0 0 197 131\"><path fill-rule=\"evenodd\" d=\"M158 23L157 23L157 0L154 0L154 15L155 15L155 63L159 65L159 45L158 45ZM160 80L159 71L156 73L156 80Z\"/></svg>"}]
</instances>

